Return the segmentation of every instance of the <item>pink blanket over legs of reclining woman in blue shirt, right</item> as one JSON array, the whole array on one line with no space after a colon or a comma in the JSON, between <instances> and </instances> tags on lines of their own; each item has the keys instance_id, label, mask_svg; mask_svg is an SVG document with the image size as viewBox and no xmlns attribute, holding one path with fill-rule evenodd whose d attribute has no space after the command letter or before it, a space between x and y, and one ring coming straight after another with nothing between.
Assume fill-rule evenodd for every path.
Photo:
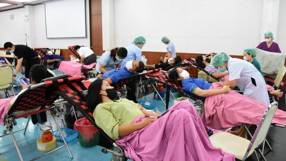
<instances>
[{"instance_id":1,"label":"pink blanket over legs of reclining woman in blue shirt, right","mask_svg":"<svg viewBox=\"0 0 286 161\"><path fill-rule=\"evenodd\" d=\"M210 89L221 89L223 85L213 83ZM203 124L213 129L227 129L242 123L258 124L267 105L252 98L230 91L206 97L202 114ZM286 126L286 112L277 109L272 123Z\"/></svg>"}]
</instances>

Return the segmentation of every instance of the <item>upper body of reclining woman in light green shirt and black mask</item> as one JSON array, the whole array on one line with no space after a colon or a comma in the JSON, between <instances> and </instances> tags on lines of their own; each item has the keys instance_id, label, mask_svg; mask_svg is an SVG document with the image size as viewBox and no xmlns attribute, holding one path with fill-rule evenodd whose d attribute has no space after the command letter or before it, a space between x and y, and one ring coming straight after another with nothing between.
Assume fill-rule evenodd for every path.
<instances>
[{"instance_id":1,"label":"upper body of reclining woman in light green shirt and black mask","mask_svg":"<svg viewBox=\"0 0 286 161\"><path fill-rule=\"evenodd\" d=\"M113 101L117 92L105 80L94 81L88 89L92 89L88 90L87 104L92 111L94 110L94 120L113 140L127 136L156 120L155 117L147 117L139 123L131 124L137 117L144 115L159 116L159 114L147 111L138 103L126 98Z\"/></svg>"}]
</instances>

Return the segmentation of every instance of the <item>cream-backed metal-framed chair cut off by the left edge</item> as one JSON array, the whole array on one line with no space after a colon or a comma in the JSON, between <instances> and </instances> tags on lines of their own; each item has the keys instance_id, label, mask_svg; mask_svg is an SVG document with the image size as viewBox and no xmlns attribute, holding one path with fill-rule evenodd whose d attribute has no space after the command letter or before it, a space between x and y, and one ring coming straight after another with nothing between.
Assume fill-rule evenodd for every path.
<instances>
[{"instance_id":1,"label":"cream-backed metal-framed chair cut off by the left edge","mask_svg":"<svg viewBox=\"0 0 286 161\"><path fill-rule=\"evenodd\" d=\"M13 68L10 65L0 65L0 89L4 90L5 98L8 98L10 95L8 95L8 88L10 88L13 92L13 95L15 96L15 93L13 89L11 88L13 86ZM6 91L5 91L6 89Z\"/></svg>"}]
</instances>

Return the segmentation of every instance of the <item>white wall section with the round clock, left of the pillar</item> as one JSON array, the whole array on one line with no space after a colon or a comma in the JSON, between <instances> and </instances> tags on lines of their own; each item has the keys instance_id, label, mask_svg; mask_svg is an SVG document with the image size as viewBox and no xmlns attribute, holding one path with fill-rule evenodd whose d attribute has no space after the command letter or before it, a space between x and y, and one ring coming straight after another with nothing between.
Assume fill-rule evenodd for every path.
<instances>
[{"instance_id":1,"label":"white wall section with the round clock, left of the pillar","mask_svg":"<svg viewBox=\"0 0 286 161\"><path fill-rule=\"evenodd\" d=\"M4 47L4 43L10 41L14 44L26 44L26 24L24 21L24 8L0 12L0 47ZM13 13L14 19L10 19Z\"/></svg>"}]
</instances>

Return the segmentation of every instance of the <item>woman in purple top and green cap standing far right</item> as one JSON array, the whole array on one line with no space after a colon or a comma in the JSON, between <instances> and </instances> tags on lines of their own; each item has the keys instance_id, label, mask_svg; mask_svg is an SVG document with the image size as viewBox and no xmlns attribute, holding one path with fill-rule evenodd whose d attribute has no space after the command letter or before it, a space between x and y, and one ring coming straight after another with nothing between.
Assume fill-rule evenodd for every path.
<instances>
[{"instance_id":1,"label":"woman in purple top and green cap standing far right","mask_svg":"<svg viewBox=\"0 0 286 161\"><path fill-rule=\"evenodd\" d=\"M278 44L272 41L274 39L272 32L270 31L265 32L264 38L265 38L265 41L261 42L256 48L264 50L264 51L268 51L268 52L281 53Z\"/></svg>"}]
</instances>

